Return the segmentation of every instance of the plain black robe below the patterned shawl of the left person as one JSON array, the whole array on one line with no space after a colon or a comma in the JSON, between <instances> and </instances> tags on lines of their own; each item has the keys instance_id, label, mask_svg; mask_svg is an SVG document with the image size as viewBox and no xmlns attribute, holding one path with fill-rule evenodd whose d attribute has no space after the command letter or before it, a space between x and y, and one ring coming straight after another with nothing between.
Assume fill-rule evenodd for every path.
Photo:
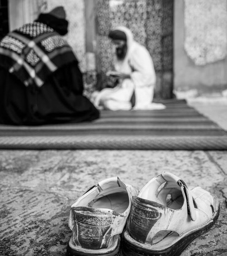
<instances>
[{"instance_id":1,"label":"plain black robe below the patterned shawl of the left person","mask_svg":"<svg viewBox=\"0 0 227 256\"><path fill-rule=\"evenodd\" d=\"M97 119L98 110L82 93L77 62L58 69L40 88L26 87L0 67L0 123L39 125Z\"/></svg>"}]
</instances>

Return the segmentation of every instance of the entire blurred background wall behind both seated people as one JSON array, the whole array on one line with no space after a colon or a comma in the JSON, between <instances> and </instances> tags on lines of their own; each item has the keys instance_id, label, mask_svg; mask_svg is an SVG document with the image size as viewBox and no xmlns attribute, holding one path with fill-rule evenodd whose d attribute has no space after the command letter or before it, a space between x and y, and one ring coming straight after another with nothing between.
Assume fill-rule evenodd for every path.
<instances>
[{"instance_id":1,"label":"entire blurred background wall behind both seated people","mask_svg":"<svg viewBox=\"0 0 227 256\"><path fill-rule=\"evenodd\" d=\"M0 0L0 38L58 5L88 94L108 84L114 48L107 35L118 25L149 50L157 98L171 98L173 89L227 88L227 0Z\"/></svg>"}]
</instances>

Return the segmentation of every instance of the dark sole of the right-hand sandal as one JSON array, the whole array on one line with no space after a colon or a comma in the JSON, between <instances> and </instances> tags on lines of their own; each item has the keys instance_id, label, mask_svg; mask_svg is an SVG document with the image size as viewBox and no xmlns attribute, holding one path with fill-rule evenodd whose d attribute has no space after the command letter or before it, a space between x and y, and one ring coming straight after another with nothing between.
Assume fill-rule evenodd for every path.
<instances>
[{"instance_id":1,"label":"dark sole of the right-hand sandal","mask_svg":"<svg viewBox=\"0 0 227 256\"><path fill-rule=\"evenodd\" d=\"M218 207L217 214L215 215L213 222L209 223L207 226L204 226L200 230L196 230L187 236L181 238L178 242L176 242L173 246L160 251L152 251L139 248L132 243L129 243L124 239L124 235L122 236L122 253L124 256L179 256L181 252L189 245L191 241L200 236L201 234L208 231L211 226L216 222L219 215L220 207Z\"/></svg>"}]
</instances>

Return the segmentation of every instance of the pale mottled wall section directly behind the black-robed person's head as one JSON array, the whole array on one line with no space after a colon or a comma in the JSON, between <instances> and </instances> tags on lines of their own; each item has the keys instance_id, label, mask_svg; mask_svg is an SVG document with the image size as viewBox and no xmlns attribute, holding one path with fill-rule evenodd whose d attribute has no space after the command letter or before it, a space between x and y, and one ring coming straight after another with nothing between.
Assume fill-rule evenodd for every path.
<instances>
[{"instance_id":1,"label":"pale mottled wall section directly behind the black-robed person's head","mask_svg":"<svg viewBox=\"0 0 227 256\"><path fill-rule=\"evenodd\" d=\"M84 0L8 0L8 5L10 30L33 22L40 12L64 6L69 21L69 32L65 37L80 60L81 68L86 70Z\"/></svg>"}]
</instances>

